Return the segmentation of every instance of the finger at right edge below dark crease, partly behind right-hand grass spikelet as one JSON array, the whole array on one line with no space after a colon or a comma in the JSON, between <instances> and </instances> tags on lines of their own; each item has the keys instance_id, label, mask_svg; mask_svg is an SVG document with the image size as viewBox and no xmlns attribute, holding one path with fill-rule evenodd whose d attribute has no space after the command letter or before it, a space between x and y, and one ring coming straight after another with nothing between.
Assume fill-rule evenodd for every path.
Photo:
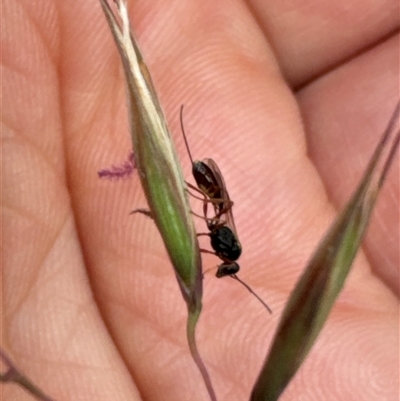
<instances>
[{"instance_id":1,"label":"finger at right edge below dark crease, partly behind right-hand grass spikelet","mask_svg":"<svg viewBox=\"0 0 400 401\"><path fill-rule=\"evenodd\" d=\"M310 156L340 209L398 101L398 35L299 93ZM397 168L396 168L397 164ZM364 249L374 272L399 294L398 158L380 194Z\"/></svg>"}]
</instances>

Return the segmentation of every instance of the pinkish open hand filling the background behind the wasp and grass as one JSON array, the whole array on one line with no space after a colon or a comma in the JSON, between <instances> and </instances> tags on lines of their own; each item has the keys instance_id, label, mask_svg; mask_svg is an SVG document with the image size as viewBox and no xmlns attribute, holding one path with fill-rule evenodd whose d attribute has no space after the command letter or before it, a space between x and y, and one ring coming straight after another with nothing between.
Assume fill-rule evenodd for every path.
<instances>
[{"instance_id":1,"label":"pinkish open hand filling the background behind the wasp and grass","mask_svg":"<svg viewBox=\"0 0 400 401\"><path fill-rule=\"evenodd\" d=\"M145 206L138 177L96 175L130 150L100 5L3 8L3 347L59 401L207 400L162 241L151 220L129 216ZM192 153L217 161L235 201L240 275L274 310L205 277L200 351L218 399L247 400L296 279L394 110L398 4L147 0L130 14L185 175L182 103ZM346 288L282 400L398 399L398 208L397 159ZM204 269L216 263L207 256Z\"/></svg>"}]
</instances>

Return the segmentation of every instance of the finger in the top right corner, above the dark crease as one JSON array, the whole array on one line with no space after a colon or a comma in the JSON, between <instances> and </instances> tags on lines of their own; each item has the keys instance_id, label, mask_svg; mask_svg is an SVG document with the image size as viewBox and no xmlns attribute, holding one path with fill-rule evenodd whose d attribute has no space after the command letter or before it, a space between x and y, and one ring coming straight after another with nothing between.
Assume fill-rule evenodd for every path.
<instances>
[{"instance_id":1,"label":"finger in the top right corner, above the dark crease","mask_svg":"<svg viewBox=\"0 0 400 401\"><path fill-rule=\"evenodd\" d=\"M285 77L298 87L399 28L398 2L253 0L250 9Z\"/></svg>"}]
</instances>

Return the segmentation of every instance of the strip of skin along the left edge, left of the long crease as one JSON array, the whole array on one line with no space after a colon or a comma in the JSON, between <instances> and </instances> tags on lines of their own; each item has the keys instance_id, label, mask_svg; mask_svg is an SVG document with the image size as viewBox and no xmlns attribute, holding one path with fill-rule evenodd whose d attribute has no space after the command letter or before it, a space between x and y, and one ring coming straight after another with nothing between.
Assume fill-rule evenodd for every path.
<instances>
[{"instance_id":1,"label":"strip of skin along the left edge, left of the long crease","mask_svg":"<svg viewBox=\"0 0 400 401\"><path fill-rule=\"evenodd\" d=\"M71 209L58 11L55 2L4 6L2 347L54 399L135 399L93 302ZM2 394L32 399L11 384Z\"/></svg>"}]
</instances>

